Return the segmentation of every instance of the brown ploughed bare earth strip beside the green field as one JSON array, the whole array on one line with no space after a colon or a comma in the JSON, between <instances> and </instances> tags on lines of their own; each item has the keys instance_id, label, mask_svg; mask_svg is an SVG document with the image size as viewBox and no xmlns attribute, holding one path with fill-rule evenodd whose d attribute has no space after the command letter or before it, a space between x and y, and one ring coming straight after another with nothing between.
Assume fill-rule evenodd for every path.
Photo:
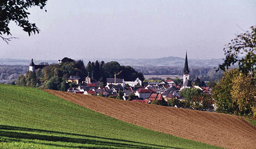
<instances>
[{"instance_id":1,"label":"brown ploughed bare earth strip beside the green field","mask_svg":"<svg viewBox=\"0 0 256 149\"><path fill-rule=\"evenodd\" d=\"M256 128L242 118L230 114L45 91L118 120L162 133L225 148L256 148Z\"/></svg>"}]
</instances>

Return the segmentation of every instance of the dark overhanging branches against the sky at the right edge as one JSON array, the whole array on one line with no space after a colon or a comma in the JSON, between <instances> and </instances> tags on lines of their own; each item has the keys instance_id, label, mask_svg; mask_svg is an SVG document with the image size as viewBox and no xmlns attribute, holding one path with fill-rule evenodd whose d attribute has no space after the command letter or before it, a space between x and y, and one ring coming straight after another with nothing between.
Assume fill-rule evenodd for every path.
<instances>
[{"instance_id":1,"label":"dark overhanging branches against the sky at the right edge","mask_svg":"<svg viewBox=\"0 0 256 149\"><path fill-rule=\"evenodd\" d=\"M238 35L231 42L226 44L224 48L225 60L222 65L219 65L218 70L227 70L231 65L238 62L238 71L243 74L251 73L251 76L255 75L255 63L256 63L256 26L250 27L251 31L246 31ZM245 55L240 58L240 56Z\"/></svg>"}]
</instances>

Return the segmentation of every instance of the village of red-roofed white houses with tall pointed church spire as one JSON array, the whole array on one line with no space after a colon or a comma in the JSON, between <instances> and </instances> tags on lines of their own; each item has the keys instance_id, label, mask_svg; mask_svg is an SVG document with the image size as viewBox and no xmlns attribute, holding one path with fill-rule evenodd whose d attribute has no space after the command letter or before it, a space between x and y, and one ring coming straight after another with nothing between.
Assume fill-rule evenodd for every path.
<instances>
[{"instance_id":1,"label":"village of red-roofed white houses with tall pointed church spire","mask_svg":"<svg viewBox=\"0 0 256 149\"><path fill-rule=\"evenodd\" d=\"M39 67L39 66L37 66ZM30 66L30 71L35 70L35 66ZM189 69L187 53L185 56L185 65L183 73L183 85L179 86L175 82L166 78L160 82L147 82L143 83L139 78L133 81L127 81L118 78L118 75L122 71L114 74L114 78L107 78L106 86L101 87L100 82L93 79L93 76L87 76L85 80L82 80L79 76L69 76L66 80L67 83L74 83L77 87L69 87L67 92L79 93L84 95L111 97L121 100L129 100L137 103L150 104L156 101L163 101L164 103L175 100L176 103L169 105L176 108L186 108L185 105L179 104L185 101L185 98L180 96L180 92L185 88L196 88L205 95L210 95L212 88L192 86L189 81ZM160 104L161 105L161 104ZM214 103L210 103L207 109L214 111Z\"/></svg>"}]
</instances>

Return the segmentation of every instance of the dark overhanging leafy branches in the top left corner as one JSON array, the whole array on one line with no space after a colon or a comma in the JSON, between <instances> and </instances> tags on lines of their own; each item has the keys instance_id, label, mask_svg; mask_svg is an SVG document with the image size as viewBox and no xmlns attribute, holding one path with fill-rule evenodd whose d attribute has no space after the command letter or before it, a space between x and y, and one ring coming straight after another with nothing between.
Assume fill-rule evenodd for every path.
<instances>
[{"instance_id":1,"label":"dark overhanging leafy branches in the top left corner","mask_svg":"<svg viewBox=\"0 0 256 149\"><path fill-rule=\"evenodd\" d=\"M39 33L40 29L36 27L36 24L28 21L28 15L30 15L30 13L27 10L34 6L38 6L40 9L43 9L46 6L46 2L47 0L0 1L0 37L2 40L8 44L11 39L16 38L6 38L2 36L11 35L9 28L10 21L15 22L19 27L22 27L23 31L28 33L28 36L33 33Z\"/></svg>"}]
</instances>

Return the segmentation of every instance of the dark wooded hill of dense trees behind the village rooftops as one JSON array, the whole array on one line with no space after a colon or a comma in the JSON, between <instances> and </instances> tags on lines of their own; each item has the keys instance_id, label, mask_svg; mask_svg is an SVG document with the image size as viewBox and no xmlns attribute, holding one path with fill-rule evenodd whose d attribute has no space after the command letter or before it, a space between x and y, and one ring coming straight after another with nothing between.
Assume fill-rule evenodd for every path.
<instances>
[{"instance_id":1,"label":"dark wooded hill of dense trees behind the village rooftops","mask_svg":"<svg viewBox=\"0 0 256 149\"><path fill-rule=\"evenodd\" d=\"M66 83L71 75L79 76L81 80L85 80L86 76L89 75L94 80L100 81L101 85L104 86L106 78L114 78L114 73L121 70L122 73L118 75L118 78L144 80L142 73L138 73L130 66L121 66L118 62L88 62L85 67L82 60L75 61L65 57L59 64L52 64L44 67L44 69L38 69L36 72L28 71L26 75L20 75L16 85L67 91L67 88L76 86L74 83Z\"/></svg>"}]
</instances>

